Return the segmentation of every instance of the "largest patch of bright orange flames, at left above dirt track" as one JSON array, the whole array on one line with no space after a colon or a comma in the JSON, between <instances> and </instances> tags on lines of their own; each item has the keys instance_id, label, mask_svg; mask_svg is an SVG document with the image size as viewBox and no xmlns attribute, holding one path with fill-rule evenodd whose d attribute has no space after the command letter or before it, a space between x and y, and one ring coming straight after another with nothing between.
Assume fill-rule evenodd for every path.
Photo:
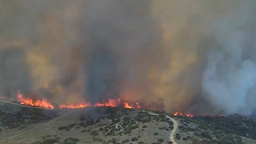
<instances>
[{"instance_id":1,"label":"largest patch of bright orange flames, at left above dirt track","mask_svg":"<svg viewBox=\"0 0 256 144\"><path fill-rule=\"evenodd\" d=\"M50 108L50 109L54 108L54 106L52 104L50 104L46 99L42 99L42 101L37 100L37 101L33 102L33 100L30 98L23 98L22 94L20 94L20 93L17 94L17 98L18 98L18 101L20 101L20 103L24 104L24 105L44 107L44 108Z\"/></svg>"}]
</instances>

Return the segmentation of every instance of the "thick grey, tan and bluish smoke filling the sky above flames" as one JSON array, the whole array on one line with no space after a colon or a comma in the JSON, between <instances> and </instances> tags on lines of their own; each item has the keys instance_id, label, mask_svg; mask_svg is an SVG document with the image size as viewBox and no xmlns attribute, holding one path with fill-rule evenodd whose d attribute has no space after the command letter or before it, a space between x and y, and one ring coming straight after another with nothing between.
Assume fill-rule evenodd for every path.
<instances>
[{"instance_id":1,"label":"thick grey, tan and bluish smoke filling the sky above flames","mask_svg":"<svg viewBox=\"0 0 256 144\"><path fill-rule=\"evenodd\" d=\"M0 94L250 114L255 6L253 0L1 1Z\"/></svg>"}]
</instances>

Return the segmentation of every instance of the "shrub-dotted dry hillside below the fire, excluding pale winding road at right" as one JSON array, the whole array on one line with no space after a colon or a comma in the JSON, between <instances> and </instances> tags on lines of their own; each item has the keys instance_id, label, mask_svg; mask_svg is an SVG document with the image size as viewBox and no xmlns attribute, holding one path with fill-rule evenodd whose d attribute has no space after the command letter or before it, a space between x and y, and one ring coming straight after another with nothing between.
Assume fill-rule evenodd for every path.
<instances>
[{"instance_id":1,"label":"shrub-dotted dry hillside below the fire, excluding pale winding road at right","mask_svg":"<svg viewBox=\"0 0 256 144\"><path fill-rule=\"evenodd\" d=\"M174 117L120 107L44 110L0 103L0 144L256 144L256 121L242 115ZM10 137L14 136L14 137Z\"/></svg>"}]
</instances>

